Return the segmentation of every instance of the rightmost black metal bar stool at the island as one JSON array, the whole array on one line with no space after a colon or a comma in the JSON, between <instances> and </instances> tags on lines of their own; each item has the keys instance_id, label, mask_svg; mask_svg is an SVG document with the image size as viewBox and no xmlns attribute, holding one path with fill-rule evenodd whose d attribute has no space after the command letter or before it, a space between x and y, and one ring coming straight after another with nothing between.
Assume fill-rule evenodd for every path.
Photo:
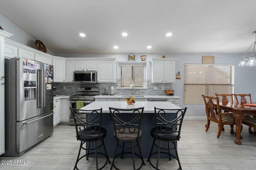
<instances>
[{"instance_id":1,"label":"rightmost black metal bar stool at the island","mask_svg":"<svg viewBox=\"0 0 256 170\"><path fill-rule=\"evenodd\" d=\"M151 136L154 138L152 147L150 150L150 154L148 155L148 162L150 165L158 169L159 164L159 158L160 154L167 154L169 157L169 160L171 160L171 156L178 160L179 168L177 170L182 170L180 159L178 156L177 151L177 141L180 140L180 130L182 121L184 118L184 115L186 113L187 107L184 109L159 109L155 107L155 113L154 113L154 119L155 119L155 127L151 129ZM170 115L175 114L175 117L177 115L176 119L173 119ZM156 144L156 141L158 141L158 145ZM167 147L162 147L162 142L166 142L168 145ZM170 144L172 143L173 147L170 147ZM157 152L153 152L153 148L156 146L158 148ZM160 151L161 150L161 151ZM175 155L172 154L170 151L175 150ZM157 155L157 161L156 166L152 164L150 161L150 157L154 154Z\"/></svg>"}]
</instances>

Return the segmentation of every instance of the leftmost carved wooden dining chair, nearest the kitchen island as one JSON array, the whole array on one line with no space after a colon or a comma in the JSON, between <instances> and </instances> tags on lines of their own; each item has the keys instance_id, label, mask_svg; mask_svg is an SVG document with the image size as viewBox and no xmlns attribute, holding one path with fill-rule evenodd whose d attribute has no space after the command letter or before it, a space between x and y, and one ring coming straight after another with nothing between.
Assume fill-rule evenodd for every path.
<instances>
[{"instance_id":1,"label":"leftmost carved wooden dining chair, nearest the kitchen island","mask_svg":"<svg viewBox=\"0 0 256 170\"><path fill-rule=\"evenodd\" d=\"M220 101L218 97L212 97L212 96L204 96L204 104L206 107L206 115L207 115L207 126L205 131L207 132L210 127L210 121L216 122L219 125L219 130L217 134L217 138L220 137L222 127L223 125L234 125L234 117L232 117L232 114L230 113L222 113L220 110ZM216 103L217 107L214 107L214 103ZM218 112L218 114L217 114ZM232 131L230 130L230 133ZM234 131L233 131L234 133Z\"/></svg>"}]
</instances>

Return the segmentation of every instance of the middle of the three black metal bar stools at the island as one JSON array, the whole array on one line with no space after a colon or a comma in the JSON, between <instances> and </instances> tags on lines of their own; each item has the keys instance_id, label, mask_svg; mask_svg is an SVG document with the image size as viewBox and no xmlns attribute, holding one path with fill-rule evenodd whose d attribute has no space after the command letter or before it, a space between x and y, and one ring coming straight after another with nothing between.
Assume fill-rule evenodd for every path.
<instances>
[{"instance_id":1,"label":"middle of the three black metal bar stools at the island","mask_svg":"<svg viewBox=\"0 0 256 170\"><path fill-rule=\"evenodd\" d=\"M116 170L119 170L114 162L115 159L121 155L123 158L123 154L132 154L132 163L133 169L139 170L145 165L145 162L142 157L142 152L140 150L139 139L142 135L142 131L140 129L142 113L144 111L144 107L134 108L134 109L118 109L109 107L111 119L114 125L114 138L116 139L116 149L114 153L114 158L112 160L111 168L114 167ZM119 145L122 143L123 145ZM130 143L131 147L124 147L124 143ZM134 145L134 143L136 143ZM118 147L122 149L122 152L117 154ZM140 154L134 153L134 148L138 147ZM124 149L131 149L132 152L124 152ZM134 156L138 156L142 160L142 164L139 168L136 169Z\"/></svg>"}]
</instances>

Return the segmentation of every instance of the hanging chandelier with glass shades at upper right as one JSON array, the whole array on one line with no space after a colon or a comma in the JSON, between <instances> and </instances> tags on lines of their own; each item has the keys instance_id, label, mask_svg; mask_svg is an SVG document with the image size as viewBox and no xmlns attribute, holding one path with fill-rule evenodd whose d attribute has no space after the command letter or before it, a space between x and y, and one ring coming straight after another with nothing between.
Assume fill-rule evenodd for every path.
<instances>
[{"instance_id":1,"label":"hanging chandelier with glass shades at upper right","mask_svg":"<svg viewBox=\"0 0 256 170\"><path fill-rule=\"evenodd\" d=\"M255 34L255 40L252 43L252 45L253 45L252 54L250 56L246 56L247 52L252 47L252 45L251 45L250 48L246 51L242 60L240 61L239 66L256 66L256 59L255 59L256 56L254 56L254 49L255 49L255 45L256 45L256 31L253 31L252 34ZM246 62L246 61L248 61L248 62Z\"/></svg>"}]
</instances>

